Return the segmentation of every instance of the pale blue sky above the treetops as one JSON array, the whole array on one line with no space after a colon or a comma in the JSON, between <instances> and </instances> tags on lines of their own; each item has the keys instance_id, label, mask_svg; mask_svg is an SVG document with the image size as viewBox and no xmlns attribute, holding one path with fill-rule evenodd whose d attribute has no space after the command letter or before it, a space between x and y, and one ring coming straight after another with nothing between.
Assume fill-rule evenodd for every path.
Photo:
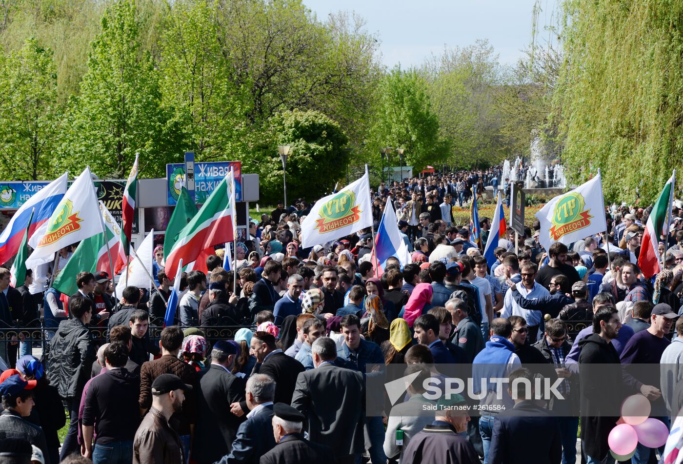
<instances>
[{"instance_id":1,"label":"pale blue sky above the treetops","mask_svg":"<svg viewBox=\"0 0 683 464\"><path fill-rule=\"evenodd\" d=\"M382 62L419 66L443 46L467 46L488 39L501 64L514 64L531 41L535 0L303 0L325 21L331 12L354 11L378 33ZM553 23L556 0L539 0L542 25ZM548 33L542 33L547 37Z\"/></svg>"}]
</instances>

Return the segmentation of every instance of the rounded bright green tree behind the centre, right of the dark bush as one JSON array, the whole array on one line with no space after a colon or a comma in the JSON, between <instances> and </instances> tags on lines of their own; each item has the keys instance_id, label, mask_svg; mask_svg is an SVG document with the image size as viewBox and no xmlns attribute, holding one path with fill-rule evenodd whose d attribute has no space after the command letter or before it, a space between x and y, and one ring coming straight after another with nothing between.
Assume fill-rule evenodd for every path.
<instances>
[{"instance_id":1,"label":"rounded bright green tree behind the centre, right of the dark bush","mask_svg":"<svg viewBox=\"0 0 683 464\"><path fill-rule=\"evenodd\" d=\"M381 79L372 121L366 148L376 167L381 164L380 148L387 146L404 148L404 165L415 170L445 161L447 148L438 135L427 81L416 70L394 68Z\"/></svg>"}]
</instances>

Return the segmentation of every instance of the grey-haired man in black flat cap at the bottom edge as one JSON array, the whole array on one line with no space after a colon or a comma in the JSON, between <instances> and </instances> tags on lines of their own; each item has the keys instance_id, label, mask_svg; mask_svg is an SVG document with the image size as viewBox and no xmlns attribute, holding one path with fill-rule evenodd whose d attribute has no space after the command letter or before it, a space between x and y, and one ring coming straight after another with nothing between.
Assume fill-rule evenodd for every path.
<instances>
[{"instance_id":1,"label":"grey-haired man in black flat cap at the bottom edge","mask_svg":"<svg viewBox=\"0 0 683 464\"><path fill-rule=\"evenodd\" d=\"M275 448L261 457L261 464L324 463L332 450L303 437L304 415L283 402L273 405Z\"/></svg>"}]
</instances>

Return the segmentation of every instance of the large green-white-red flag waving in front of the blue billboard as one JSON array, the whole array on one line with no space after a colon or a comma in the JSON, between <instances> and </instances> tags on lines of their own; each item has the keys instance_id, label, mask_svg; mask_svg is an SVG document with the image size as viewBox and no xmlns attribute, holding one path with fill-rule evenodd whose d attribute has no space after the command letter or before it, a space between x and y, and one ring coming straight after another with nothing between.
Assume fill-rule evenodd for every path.
<instances>
[{"instance_id":1,"label":"large green-white-red flag waving in front of the blue billboard","mask_svg":"<svg viewBox=\"0 0 683 464\"><path fill-rule=\"evenodd\" d=\"M228 191L229 175L211 193L197 215L178 234L171 253L166 258L166 275L176 277L178 262L193 262L202 251L234 238L232 197Z\"/></svg>"}]
</instances>

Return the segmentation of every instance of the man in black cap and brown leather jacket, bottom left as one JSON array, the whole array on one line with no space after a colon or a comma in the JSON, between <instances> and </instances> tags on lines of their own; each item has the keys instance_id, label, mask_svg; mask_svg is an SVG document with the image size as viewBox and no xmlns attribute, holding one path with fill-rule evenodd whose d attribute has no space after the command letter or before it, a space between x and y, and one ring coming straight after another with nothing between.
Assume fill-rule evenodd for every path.
<instances>
[{"instance_id":1,"label":"man in black cap and brown leather jacket, bottom left","mask_svg":"<svg viewBox=\"0 0 683 464\"><path fill-rule=\"evenodd\" d=\"M180 411L185 393L192 390L175 374L161 374L152 383L152 407L135 432L133 464L185 462L178 433L169 425Z\"/></svg>"}]
</instances>

